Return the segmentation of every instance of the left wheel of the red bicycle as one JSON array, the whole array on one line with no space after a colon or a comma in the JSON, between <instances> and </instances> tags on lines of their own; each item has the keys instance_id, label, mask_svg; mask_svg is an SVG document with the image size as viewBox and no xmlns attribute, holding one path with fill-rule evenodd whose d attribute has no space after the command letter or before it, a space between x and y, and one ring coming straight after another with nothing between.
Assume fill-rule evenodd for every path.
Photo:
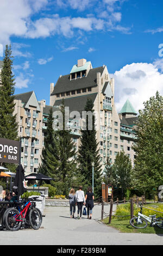
<instances>
[{"instance_id":1,"label":"left wheel of the red bicycle","mask_svg":"<svg viewBox=\"0 0 163 256\"><path fill-rule=\"evenodd\" d=\"M20 229L22 224L22 217L21 215L18 216L20 212L15 208L10 208L7 213L5 214L5 226L8 230L17 231ZM18 216L16 218L16 216Z\"/></svg>"}]
</instances>

